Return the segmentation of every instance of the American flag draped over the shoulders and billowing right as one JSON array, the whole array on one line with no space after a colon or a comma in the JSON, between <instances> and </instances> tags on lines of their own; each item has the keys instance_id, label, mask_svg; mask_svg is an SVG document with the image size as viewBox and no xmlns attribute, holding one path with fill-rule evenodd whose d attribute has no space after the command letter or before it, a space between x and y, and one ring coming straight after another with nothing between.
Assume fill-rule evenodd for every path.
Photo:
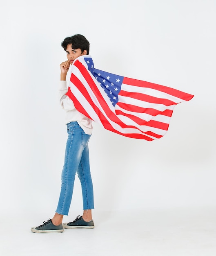
<instances>
[{"instance_id":1,"label":"American flag draped over the shoulders and billowing right","mask_svg":"<svg viewBox=\"0 0 216 256\"><path fill-rule=\"evenodd\" d=\"M73 61L67 96L79 112L105 129L148 141L163 137L176 104L194 97L95 69L90 55Z\"/></svg>"}]
</instances>

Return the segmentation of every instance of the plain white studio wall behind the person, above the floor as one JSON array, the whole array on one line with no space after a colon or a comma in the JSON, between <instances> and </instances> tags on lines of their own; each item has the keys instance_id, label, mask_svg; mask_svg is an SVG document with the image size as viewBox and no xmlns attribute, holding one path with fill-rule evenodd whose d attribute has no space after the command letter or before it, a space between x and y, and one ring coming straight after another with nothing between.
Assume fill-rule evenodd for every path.
<instances>
[{"instance_id":1,"label":"plain white studio wall behind the person, above the floor","mask_svg":"<svg viewBox=\"0 0 216 256\"><path fill-rule=\"evenodd\" d=\"M60 43L77 33L96 68L195 95L156 141L94 123L93 214L216 207L215 13L215 0L1 2L0 214L45 220L56 210L67 139ZM82 214L77 177L71 211Z\"/></svg>"}]
</instances>

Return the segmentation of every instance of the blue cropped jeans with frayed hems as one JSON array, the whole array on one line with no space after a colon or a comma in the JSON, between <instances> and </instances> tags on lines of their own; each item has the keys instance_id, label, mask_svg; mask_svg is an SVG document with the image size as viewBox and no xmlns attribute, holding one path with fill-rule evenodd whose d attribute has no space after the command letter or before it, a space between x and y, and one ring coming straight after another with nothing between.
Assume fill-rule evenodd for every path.
<instances>
[{"instance_id":1,"label":"blue cropped jeans with frayed hems","mask_svg":"<svg viewBox=\"0 0 216 256\"><path fill-rule=\"evenodd\" d=\"M56 213L62 215L68 215L76 173L82 187L83 209L94 209L88 148L91 135L86 134L76 121L67 124L67 133L65 164L62 169L62 186L56 209Z\"/></svg>"}]
</instances>

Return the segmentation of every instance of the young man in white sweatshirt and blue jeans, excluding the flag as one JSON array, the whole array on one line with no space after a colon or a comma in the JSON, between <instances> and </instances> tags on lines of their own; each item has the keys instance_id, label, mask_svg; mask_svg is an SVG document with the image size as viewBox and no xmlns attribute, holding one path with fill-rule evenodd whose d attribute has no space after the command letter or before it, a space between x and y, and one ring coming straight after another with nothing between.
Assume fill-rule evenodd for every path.
<instances>
[{"instance_id":1,"label":"young man in white sweatshirt and blue jeans, excluding the flag","mask_svg":"<svg viewBox=\"0 0 216 256\"><path fill-rule=\"evenodd\" d=\"M32 227L34 233L60 233L66 229L94 228L91 209L94 209L93 185L89 166L88 142L92 132L92 120L76 110L73 101L65 95L68 91L66 75L73 61L82 55L89 54L89 42L85 36L76 34L65 38L62 47L67 53L67 61L60 64L60 105L66 112L68 139L65 150L65 163L62 170L62 186L56 213L52 219L38 227ZM82 186L83 215L73 222L64 223L68 215L76 173Z\"/></svg>"}]
</instances>

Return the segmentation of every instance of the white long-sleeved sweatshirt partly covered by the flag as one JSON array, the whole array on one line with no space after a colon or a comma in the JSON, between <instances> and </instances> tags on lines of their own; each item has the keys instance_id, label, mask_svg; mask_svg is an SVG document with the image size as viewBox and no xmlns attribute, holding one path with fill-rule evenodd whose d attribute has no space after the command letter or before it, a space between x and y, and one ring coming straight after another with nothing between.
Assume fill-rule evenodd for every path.
<instances>
[{"instance_id":1,"label":"white long-sleeved sweatshirt partly covered by the flag","mask_svg":"<svg viewBox=\"0 0 216 256\"><path fill-rule=\"evenodd\" d=\"M84 130L86 134L91 135L93 126L92 120L86 117L85 115L81 114L76 110L74 107L73 101L65 95L68 91L67 82L60 81L59 85L59 99L60 99L60 106L65 110L66 117L65 123L69 124L72 121L77 121L80 127Z\"/></svg>"}]
</instances>

